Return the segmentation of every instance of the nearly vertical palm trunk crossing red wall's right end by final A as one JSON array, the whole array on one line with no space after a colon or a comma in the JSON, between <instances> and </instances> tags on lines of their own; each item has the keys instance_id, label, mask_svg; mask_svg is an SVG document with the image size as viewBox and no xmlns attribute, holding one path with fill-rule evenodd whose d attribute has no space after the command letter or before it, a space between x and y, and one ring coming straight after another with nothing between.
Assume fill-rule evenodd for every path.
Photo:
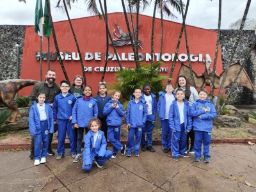
<instances>
[{"instance_id":1,"label":"nearly vertical palm trunk crossing red wall's right end by final A","mask_svg":"<svg viewBox=\"0 0 256 192\"><path fill-rule=\"evenodd\" d=\"M216 71L217 57L218 57L218 51L219 51L219 45L220 45L220 26L221 26L221 0L219 0L218 35L217 35L217 41L216 41L214 63L213 63L213 68L212 68L211 93L210 93L211 100L213 99L215 71Z\"/></svg>"}]
</instances>

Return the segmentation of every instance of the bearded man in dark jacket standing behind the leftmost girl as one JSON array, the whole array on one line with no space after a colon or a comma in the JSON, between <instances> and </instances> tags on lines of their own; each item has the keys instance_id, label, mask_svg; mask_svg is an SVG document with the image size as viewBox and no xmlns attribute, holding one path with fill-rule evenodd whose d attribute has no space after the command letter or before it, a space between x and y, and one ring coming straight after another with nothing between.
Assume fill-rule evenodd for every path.
<instances>
[{"instance_id":1,"label":"bearded man in dark jacket standing behind the leftmost girl","mask_svg":"<svg viewBox=\"0 0 256 192\"><path fill-rule=\"evenodd\" d=\"M31 100L36 100L36 95L38 92L44 92L46 94L45 101L49 101L50 105L52 106L54 98L56 95L60 93L60 86L54 83L56 79L56 72L54 70L48 70L45 74L46 80L36 83L33 87L31 92ZM57 129L55 129L56 132ZM51 144L52 144L52 136L53 134L49 133L49 145L48 145L48 154L50 156L54 156L54 151L52 151ZM31 150L29 159L34 159L35 157L35 136L31 136Z\"/></svg>"}]
</instances>

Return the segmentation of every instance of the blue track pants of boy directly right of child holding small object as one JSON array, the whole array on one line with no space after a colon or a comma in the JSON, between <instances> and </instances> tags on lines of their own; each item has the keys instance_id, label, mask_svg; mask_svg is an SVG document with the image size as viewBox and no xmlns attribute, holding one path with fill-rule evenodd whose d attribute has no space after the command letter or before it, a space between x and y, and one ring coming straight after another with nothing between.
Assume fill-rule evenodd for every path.
<instances>
[{"instance_id":1,"label":"blue track pants of boy directly right of child holding small object","mask_svg":"<svg viewBox=\"0 0 256 192\"><path fill-rule=\"evenodd\" d=\"M140 140L141 140L141 127L131 127L128 131L127 140L127 154L132 153L132 148L134 146L134 154L140 154ZM135 135L135 143L134 143Z\"/></svg>"}]
</instances>

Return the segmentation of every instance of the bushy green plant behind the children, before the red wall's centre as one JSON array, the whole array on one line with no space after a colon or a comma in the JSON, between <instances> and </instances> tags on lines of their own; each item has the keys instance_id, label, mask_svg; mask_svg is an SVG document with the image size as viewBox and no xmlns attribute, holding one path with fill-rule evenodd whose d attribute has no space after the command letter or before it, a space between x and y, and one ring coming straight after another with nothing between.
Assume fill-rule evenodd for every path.
<instances>
[{"instance_id":1,"label":"bushy green plant behind the children, before the red wall's centre","mask_svg":"<svg viewBox=\"0 0 256 192\"><path fill-rule=\"evenodd\" d=\"M122 72L116 72L116 82L110 87L110 92L113 90L120 90L122 92L122 103L124 106L130 100L134 88L143 88L143 84L149 83L151 85L151 92L158 95L158 92L164 90L163 81L168 79L166 76L159 74L159 67L161 63L153 64L153 71L151 72L151 65L141 63L141 68L125 68Z\"/></svg>"}]
</instances>

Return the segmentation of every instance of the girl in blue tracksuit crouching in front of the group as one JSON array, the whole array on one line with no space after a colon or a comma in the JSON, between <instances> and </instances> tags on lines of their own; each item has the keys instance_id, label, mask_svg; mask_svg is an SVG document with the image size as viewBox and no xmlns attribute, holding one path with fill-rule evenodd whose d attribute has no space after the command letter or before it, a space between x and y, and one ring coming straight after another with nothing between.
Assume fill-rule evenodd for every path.
<instances>
[{"instance_id":1,"label":"girl in blue tracksuit crouching in front of the group","mask_svg":"<svg viewBox=\"0 0 256 192\"><path fill-rule=\"evenodd\" d=\"M112 152L106 150L107 141L104 132L99 130L99 118L92 118L88 127L90 131L84 136L83 170L85 172L91 170L93 162L102 168L102 163L112 156Z\"/></svg>"}]
</instances>

